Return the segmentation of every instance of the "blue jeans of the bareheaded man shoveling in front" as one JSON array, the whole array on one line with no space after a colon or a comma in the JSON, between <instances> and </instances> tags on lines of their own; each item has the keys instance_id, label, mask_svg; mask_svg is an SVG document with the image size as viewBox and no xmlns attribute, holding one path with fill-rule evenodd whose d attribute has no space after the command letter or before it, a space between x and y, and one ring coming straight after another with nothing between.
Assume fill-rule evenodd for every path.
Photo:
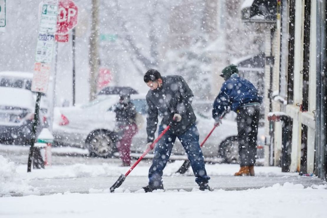
<instances>
[{"instance_id":1,"label":"blue jeans of the bareheaded man shoveling in front","mask_svg":"<svg viewBox=\"0 0 327 218\"><path fill-rule=\"evenodd\" d=\"M159 126L158 135L163 131L163 126ZM177 136L168 130L156 144L154 158L149 169L149 185L161 186L163 169L170 157L176 137L181 141L187 157L190 160L193 173L196 176L196 183L207 183L210 179L204 168L203 154L199 144L199 132L197 126L193 124L185 133Z\"/></svg>"}]
</instances>

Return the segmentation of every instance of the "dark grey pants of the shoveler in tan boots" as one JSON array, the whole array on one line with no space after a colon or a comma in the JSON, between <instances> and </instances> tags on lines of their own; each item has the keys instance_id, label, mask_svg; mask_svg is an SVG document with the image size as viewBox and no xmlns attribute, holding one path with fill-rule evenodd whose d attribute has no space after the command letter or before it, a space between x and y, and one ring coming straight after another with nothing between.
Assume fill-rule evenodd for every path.
<instances>
[{"instance_id":1,"label":"dark grey pants of the shoveler in tan boots","mask_svg":"<svg viewBox=\"0 0 327 218\"><path fill-rule=\"evenodd\" d=\"M238 152L241 167L255 164L259 115L259 106L244 107L237 111Z\"/></svg>"}]
</instances>

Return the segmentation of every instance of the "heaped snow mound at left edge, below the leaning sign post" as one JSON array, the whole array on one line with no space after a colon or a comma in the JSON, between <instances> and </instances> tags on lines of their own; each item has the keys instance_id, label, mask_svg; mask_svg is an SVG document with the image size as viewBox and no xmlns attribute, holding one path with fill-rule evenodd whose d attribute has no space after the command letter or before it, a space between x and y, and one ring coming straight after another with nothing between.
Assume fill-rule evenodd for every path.
<instances>
[{"instance_id":1,"label":"heaped snow mound at left edge, below the leaning sign post","mask_svg":"<svg viewBox=\"0 0 327 218\"><path fill-rule=\"evenodd\" d=\"M19 178L13 162L0 155L0 196L28 194L38 194L38 191Z\"/></svg>"}]
</instances>

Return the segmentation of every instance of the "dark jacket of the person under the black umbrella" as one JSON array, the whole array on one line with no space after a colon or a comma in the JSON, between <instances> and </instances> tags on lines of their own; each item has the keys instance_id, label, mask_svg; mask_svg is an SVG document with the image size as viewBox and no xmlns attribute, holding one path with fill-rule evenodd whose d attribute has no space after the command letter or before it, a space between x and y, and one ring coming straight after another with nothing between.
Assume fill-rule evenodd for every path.
<instances>
[{"instance_id":1,"label":"dark jacket of the person under the black umbrella","mask_svg":"<svg viewBox=\"0 0 327 218\"><path fill-rule=\"evenodd\" d=\"M133 103L118 103L113 110L116 112L117 126L127 126L135 123L136 110Z\"/></svg>"}]
</instances>

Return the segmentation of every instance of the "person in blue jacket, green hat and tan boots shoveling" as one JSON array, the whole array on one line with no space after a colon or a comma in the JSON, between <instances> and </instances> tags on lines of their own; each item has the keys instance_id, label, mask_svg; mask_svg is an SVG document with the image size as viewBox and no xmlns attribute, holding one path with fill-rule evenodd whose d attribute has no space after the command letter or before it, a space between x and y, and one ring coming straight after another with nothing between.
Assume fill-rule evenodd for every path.
<instances>
[{"instance_id":1,"label":"person in blue jacket, green hat and tan boots shoveling","mask_svg":"<svg viewBox=\"0 0 327 218\"><path fill-rule=\"evenodd\" d=\"M234 176L254 176L257 135L262 96L254 85L238 75L237 66L231 64L220 75L225 79L214 102L212 116L216 124L228 107L237 113L237 137L240 170Z\"/></svg>"}]
</instances>

